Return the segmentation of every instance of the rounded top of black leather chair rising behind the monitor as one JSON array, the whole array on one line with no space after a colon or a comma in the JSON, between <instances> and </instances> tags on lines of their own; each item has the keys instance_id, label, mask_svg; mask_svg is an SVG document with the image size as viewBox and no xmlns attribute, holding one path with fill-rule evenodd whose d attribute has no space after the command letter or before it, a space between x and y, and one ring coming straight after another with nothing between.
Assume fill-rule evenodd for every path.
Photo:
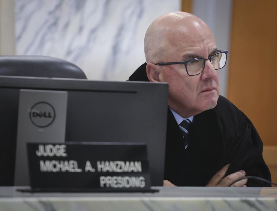
<instances>
[{"instance_id":1,"label":"rounded top of black leather chair rising behind the monitor","mask_svg":"<svg viewBox=\"0 0 277 211\"><path fill-rule=\"evenodd\" d=\"M75 64L50 56L0 56L0 75L87 79Z\"/></svg>"}]
</instances>

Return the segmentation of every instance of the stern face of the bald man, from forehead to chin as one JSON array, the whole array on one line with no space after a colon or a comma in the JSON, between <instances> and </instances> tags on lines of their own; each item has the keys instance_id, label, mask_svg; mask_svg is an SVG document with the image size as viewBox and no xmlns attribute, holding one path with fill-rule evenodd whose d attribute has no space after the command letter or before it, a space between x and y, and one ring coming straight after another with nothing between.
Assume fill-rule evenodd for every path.
<instances>
[{"instance_id":1,"label":"stern face of the bald man, from forehead to chin","mask_svg":"<svg viewBox=\"0 0 277 211\"><path fill-rule=\"evenodd\" d=\"M210 30L171 33L167 36L169 53L161 62L208 58L216 51ZM184 64L160 66L160 81L169 83L169 107L183 117L214 108L219 97L218 71L206 60L199 75L189 76Z\"/></svg>"}]
</instances>

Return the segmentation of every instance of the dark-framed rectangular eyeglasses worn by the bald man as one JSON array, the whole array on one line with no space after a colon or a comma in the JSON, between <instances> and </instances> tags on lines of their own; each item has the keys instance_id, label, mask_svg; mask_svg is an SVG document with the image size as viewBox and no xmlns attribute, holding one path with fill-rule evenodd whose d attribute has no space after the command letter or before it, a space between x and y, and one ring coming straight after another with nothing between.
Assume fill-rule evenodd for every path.
<instances>
[{"instance_id":1,"label":"dark-framed rectangular eyeglasses worn by the bald man","mask_svg":"<svg viewBox=\"0 0 277 211\"><path fill-rule=\"evenodd\" d=\"M188 75L198 75L202 73L206 60L210 60L215 70L219 70L223 68L227 61L227 53L228 51L218 51L214 55L211 55L209 58L195 58L185 62L163 62L157 63L156 65L171 65L171 64L184 64L186 66L186 71Z\"/></svg>"}]
</instances>

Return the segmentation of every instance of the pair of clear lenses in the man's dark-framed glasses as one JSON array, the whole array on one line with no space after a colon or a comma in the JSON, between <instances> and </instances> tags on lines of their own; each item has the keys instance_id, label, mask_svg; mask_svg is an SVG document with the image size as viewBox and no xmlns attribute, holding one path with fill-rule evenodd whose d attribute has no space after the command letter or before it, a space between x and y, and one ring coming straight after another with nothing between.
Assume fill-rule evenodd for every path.
<instances>
[{"instance_id":1,"label":"pair of clear lenses in the man's dark-framed glasses","mask_svg":"<svg viewBox=\"0 0 277 211\"><path fill-rule=\"evenodd\" d=\"M214 69L220 69L224 67L226 63L226 54L218 53L211 57L212 65ZM195 59L187 63L187 70L189 75L196 75L201 73L204 67L205 60L204 59Z\"/></svg>"}]
</instances>

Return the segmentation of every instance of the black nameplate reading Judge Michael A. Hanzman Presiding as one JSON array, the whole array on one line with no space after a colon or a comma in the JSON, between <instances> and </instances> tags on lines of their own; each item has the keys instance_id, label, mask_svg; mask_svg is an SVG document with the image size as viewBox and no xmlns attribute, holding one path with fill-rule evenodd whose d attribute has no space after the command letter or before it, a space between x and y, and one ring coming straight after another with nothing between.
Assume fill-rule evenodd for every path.
<instances>
[{"instance_id":1,"label":"black nameplate reading Judge Michael A. Hanzman Presiding","mask_svg":"<svg viewBox=\"0 0 277 211\"><path fill-rule=\"evenodd\" d=\"M33 189L150 190L145 144L28 143L27 149Z\"/></svg>"}]
</instances>

